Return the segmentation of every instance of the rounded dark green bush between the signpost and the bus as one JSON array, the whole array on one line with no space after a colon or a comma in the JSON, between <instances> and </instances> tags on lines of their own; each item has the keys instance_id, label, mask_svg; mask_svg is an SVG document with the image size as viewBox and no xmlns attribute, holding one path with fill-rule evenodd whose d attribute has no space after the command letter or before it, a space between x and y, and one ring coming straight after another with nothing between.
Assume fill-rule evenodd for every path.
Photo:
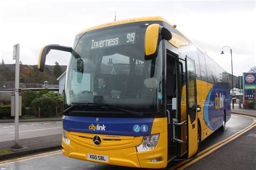
<instances>
[{"instance_id":1,"label":"rounded dark green bush between the signpost and the bus","mask_svg":"<svg viewBox=\"0 0 256 170\"><path fill-rule=\"evenodd\" d=\"M40 116L41 117L51 117L55 116L55 107L57 106L57 102L48 96L42 96L39 98L35 98L32 103L33 108L37 111L38 116L38 108L40 107Z\"/></svg>"}]
</instances>

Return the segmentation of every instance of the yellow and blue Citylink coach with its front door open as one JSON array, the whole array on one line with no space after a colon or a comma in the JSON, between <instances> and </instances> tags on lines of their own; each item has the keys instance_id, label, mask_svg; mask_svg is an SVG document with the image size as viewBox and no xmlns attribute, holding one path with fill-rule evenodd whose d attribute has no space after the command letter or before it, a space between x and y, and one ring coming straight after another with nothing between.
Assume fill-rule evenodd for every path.
<instances>
[{"instance_id":1,"label":"yellow and blue Citylink coach with its front door open","mask_svg":"<svg viewBox=\"0 0 256 170\"><path fill-rule=\"evenodd\" d=\"M188 159L231 117L228 74L161 17L83 30L66 70L63 154L103 164L164 168Z\"/></svg>"}]
</instances>

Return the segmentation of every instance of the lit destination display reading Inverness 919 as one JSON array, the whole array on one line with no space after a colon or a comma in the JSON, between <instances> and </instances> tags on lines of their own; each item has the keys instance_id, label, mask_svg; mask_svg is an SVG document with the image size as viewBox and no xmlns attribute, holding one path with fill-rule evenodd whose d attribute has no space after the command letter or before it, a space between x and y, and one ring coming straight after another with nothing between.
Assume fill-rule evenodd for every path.
<instances>
[{"instance_id":1,"label":"lit destination display reading Inverness 919","mask_svg":"<svg viewBox=\"0 0 256 170\"><path fill-rule=\"evenodd\" d=\"M134 44L136 43L136 37L137 34L135 31L133 31L98 38L94 37L93 39L86 38L85 51Z\"/></svg>"}]
</instances>

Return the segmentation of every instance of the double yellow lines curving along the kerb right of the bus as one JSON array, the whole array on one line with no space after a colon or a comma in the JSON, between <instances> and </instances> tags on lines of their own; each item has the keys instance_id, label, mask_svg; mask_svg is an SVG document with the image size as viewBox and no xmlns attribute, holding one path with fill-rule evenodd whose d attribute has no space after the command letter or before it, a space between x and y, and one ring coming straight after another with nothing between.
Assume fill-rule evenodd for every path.
<instances>
[{"instance_id":1,"label":"double yellow lines curving along the kerb right of the bus","mask_svg":"<svg viewBox=\"0 0 256 170\"><path fill-rule=\"evenodd\" d=\"M211 151L212 151L212 150L211 150L212 148L213 148L213 151L215 151L215 150L214 150L214 147L218 147L218 145L223 146L222 144L224 144L226 141L227 141L227 143L228 143L228 142L234 140L235 138L237 138L237 137L239 137L239 136L241 135L240 133L243 134L244 132L247 132L248 129L250 130L250 129L252 129L252 128L255 126L255 124L256 124L256 119L255 119L254 117L245 116L245 115L239 115L239 116L250 117L250 118L253 119L254 122L253 122L251 125L247 126L246 128L242 129L241 131L238 131L237 133L233 134L232 136L230 136L230 137L228 137L228 138L226 138L226 139L224 139L224 140L221 140L221 141L219 141L218 143L216 143L216 144L214 144L214 145L212 145L212 146L206 148L205 150L199 152L196 158L191 158L191 159L184 160L184 161L180 162L179 164L170 167L169 169L176 169L176 168L178 168L178 167L181 166L181 165L185 166L185 165L186 165L186 164L185 164L186 162L188 162L187 164L189 164L189 163L190 163L191 161L193 161L194 159L199 158L202 154L206 154L206 153L208 153L208 152L211 152ZM226 144L226 143L225 143L225 144ZM219 147L218 147L218 148L219 148ZM211 151L209 151L209 150L211 150ZM212 152L213 152L213 151L212 151ZM206 156L206 155L205 155L205 156ZM195 161L195 162L196 162L196 161ZM184 165L184 164L185 164L185 165ZM185 168L185 167L184 167L184 168Z\"/></svg>"}]
</instances>

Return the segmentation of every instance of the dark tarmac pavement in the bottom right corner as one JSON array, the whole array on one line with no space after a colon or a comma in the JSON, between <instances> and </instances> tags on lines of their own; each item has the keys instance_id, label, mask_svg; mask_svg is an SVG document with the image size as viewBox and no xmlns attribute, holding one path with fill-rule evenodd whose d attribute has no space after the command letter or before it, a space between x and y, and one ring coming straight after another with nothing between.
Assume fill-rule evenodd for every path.
<instances>
[{"instance_id":1,"label":"dark tarmac pavement in the bottom right corner","mask_svg":"<svg viewBox=\"0 0 256 170\"><path fill-rule=\"evenodd\" d=\"M185 169L256 169L256 127Z\"/></svg>"}]
</instances>

